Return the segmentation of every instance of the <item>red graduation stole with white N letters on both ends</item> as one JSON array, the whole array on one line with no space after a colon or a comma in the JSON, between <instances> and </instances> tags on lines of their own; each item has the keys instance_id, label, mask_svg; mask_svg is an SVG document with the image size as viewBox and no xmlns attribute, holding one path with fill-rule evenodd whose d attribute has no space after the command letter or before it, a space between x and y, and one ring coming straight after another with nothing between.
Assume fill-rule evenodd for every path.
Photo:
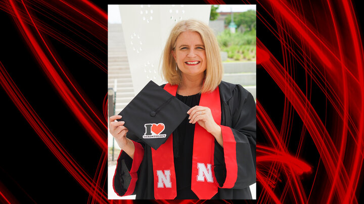
<instances>
[{"instance_id":1,"label":"red graduation stole with white N letters on both ends","mask_svg":"<svg viewBox=\"0 0 364 204\"><path fill-rule=\"evenodd\" d=\"M173 96L176 95L177 88L177 85L166 84L164 86L164 90ZM212 93L202 93L199 105L209 107L215 122L220 124L221 105L218 87ZM168 140L157 150L152 148L154 196L156 199L174 199L177 195L172 140L171 134ZM191 189L199 199L210 199L217 193L217 185L212 173L214 141L213 135L196 122Z\"/></svg>"}]
</instances>

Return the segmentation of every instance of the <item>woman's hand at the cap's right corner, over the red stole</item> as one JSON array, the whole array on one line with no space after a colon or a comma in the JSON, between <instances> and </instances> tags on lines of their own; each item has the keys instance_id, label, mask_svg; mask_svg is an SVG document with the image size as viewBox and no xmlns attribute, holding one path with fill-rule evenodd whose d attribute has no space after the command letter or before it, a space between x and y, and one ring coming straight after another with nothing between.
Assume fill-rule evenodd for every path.
<instances>
[{"instance_id":1,"label":"woman's hand at the cap's right corner, over the red stole","mask_svg":"<svg viewBox=\"0 0 364 204\"><path fill-rule=\"evenodd\" d=\"M221 128L212 117L210 108L204 106L194 106L187 114L190 115L190 123L196 122L210 132L216 138L216 134L221 134Z\"/></svg>"}]
</instances>

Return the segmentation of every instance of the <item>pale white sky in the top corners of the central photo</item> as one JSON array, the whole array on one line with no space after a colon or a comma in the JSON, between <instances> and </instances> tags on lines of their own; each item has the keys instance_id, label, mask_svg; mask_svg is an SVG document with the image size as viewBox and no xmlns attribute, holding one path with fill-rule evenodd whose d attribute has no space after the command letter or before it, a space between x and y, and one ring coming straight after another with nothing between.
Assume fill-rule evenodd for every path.
<instances>
[{"instance_id":1,"label":"pale white sky in the top corners of the central photo","mask_svg":"<svg viewBox=\"0 0 364 204\"><path fill-rule=\"evenodd\" d=\"M245 12L248 10L256 10L256 5L220 5L217 12ZM117 5L109 5L108 7L109 23L121 23L119 8Z\"/></svg>"}]
</instances>

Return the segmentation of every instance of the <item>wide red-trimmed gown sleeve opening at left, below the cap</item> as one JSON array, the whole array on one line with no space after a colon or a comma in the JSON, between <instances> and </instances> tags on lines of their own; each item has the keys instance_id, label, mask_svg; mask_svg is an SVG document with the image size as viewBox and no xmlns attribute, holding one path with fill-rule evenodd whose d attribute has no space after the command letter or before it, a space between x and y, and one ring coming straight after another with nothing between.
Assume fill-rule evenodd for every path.
<instances>
[{"instance_id":1,"label":"wide red-trimmed gown sleeve opening at left, below the cap","mask_svg":"<svg viewBox=\"0 0 364 204\"><path fill-rule=\"evenodd\" d=\"M138 181L138 170L144 157L143 146L132 141L135 147L134 159L121 151L117 160L113 178L113 188L117 195L134 194L136 181Z\"/></svg>"}]
</instances>

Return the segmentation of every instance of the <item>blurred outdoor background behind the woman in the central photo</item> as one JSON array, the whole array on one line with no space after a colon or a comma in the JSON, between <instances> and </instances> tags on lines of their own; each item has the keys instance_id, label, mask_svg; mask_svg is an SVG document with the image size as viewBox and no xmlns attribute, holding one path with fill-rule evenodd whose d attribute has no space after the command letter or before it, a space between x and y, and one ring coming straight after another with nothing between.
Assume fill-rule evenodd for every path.
<instances>
[{"instance_id":1,"label":"blurred outdoor background behind the woman in the central photo","mask_svg":"<svg viewBox=\"0 0 364 204\"><path fill-rule=\"evenodd\" d=\"M223 81L241 84L256 99L256 5L108 5L108 112L118 114L139 91L160 75L160 55L173 25L198 19L214 31L223 61ZM108 198L120 153L108 133ZM250 186L256 199L256 184Z\"/></svg>"}]
</instances>

